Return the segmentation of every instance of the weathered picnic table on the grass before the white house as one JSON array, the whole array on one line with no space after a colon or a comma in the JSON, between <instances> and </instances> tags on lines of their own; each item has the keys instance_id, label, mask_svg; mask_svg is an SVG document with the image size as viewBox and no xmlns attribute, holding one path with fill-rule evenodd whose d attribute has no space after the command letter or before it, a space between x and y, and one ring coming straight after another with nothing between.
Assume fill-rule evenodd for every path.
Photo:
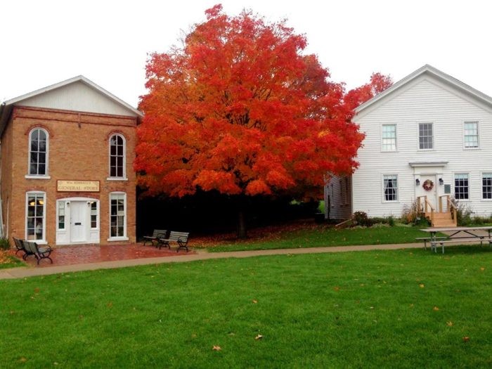
<instances>
[{"instance_id":1,"label":"weathered picnic table on the grass before the white house","mask_svg":"<svg viewBox=\"0 0 492 369\"><path fill-rule=\"evenodd\" d=\"M430 233L429 238L417 238L417 240L424 240L424 247L427 241L431 245L431 250L437 252L437 245L441 245L444 254L444 244L449 242L470 242L480 241L480 245L484 245L484 240L488 241L488 245L492 245L491 231L492 226L485 227L429 227L421 229L420 231ZM447 232L447 233L445 233ZM438 233L445 233L444 236L437 235ZM451 234L448 234L451 233Z\"/></svg>"}]
</instances>

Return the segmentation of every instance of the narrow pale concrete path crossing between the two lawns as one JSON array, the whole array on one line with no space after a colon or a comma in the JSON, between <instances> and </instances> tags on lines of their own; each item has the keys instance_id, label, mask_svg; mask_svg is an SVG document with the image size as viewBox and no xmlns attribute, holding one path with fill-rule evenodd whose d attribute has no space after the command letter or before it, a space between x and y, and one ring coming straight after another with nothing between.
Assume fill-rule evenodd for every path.
<instances>
[{"instance_id":1,"label":"narrow pale concrete path crossing between the two lawns","mask_svg":"<svg viewBox=\"0 0 492 369\"><path fill-rule=\"evenodd\" d=\"M176 257L149 257L143 259L127 259L116 261L101 261L89 264L72 264L61 266L45 266L37 268L35 266L0 269L0 279L25 278L32 276L47 276L49 274L70 273L75 271L93 271L96 269L122 268L125 266L137 266L148 264L176 263L207 259L224 259L229 257L259 257L265 255L285 255L285 254L324 254L327 252L351 252L368 250L399 250L416 249L423 247L422 243L404 243L391 245L361 245L361 246L334 246L334 247L309 247L300 249L277 249L277 250L253 250L253 251L232 251L232 252L205 252L198 251L198 254L189 254Z\"/></svg>"}]
</instances>

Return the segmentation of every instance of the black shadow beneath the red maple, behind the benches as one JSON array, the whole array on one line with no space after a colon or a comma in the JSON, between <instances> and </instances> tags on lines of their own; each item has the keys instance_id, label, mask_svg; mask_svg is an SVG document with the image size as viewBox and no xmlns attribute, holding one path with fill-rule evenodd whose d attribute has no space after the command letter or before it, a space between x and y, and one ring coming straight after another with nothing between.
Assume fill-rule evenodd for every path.
<instances>
[{"instance_id":1,"label":"black shadow beneath the red maple, behind the benches","mask_svg":"<svg viewBox=\"0 0 492 369\"><path fill-rule=\"evenodd\" d=\"M297 219L313 219L317 201L292 203L292 198L252 196L244 207L247 229L282 224ZM154 229L210 235L238 231L235 199L216 191L198 191L195 195L171 198L164 195L137 201L137 238Z\"/></svg>"}]
</instances>

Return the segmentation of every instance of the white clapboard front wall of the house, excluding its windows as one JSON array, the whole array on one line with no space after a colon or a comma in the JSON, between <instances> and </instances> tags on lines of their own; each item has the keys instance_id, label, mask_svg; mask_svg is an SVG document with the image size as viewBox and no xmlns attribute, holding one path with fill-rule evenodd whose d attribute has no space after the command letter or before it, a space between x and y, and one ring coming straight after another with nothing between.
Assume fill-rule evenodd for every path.
<instances>
[{"instance_id":1,"label":"white clapboard front wall of the house, excluding its windows","mask_svg":"<svg viewBox=\"0 0 492 369\"><path fill-rule=\"evenodd\" d=\"M358 151L360 167L353 175L353 211L370 216L401 216L404 205L415 200L415 179L434 174L437 195L444 195L445 184L454 193L454 173L470 175L470 200L476 215L489 216L492 201L482 200L481 173L492 171L492 113L490 107L467 97L458 89L432 77L417 77L403 91L394 91L381 103L354 121L365 132L363 148ZM463 125L479 122L479 148L465 149ZM434 124L434 149L418 149L418 124ZM396 152L381 151L381 125L396 124ZM444 162L434 167L410 167L410 162ZM398 176L399 200L384 202L382 176ZM420 183L422 186L422 183Z\"/></svg>"}]
</instances>

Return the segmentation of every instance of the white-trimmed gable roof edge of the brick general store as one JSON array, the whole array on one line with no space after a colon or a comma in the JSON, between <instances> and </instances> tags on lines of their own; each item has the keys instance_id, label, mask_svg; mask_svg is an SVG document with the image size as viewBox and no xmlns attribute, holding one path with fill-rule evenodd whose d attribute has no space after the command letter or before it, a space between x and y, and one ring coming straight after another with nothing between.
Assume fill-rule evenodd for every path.
<instances>
[{"instance_id":1,"label":"white-trimmed gable roof edge of the brick general store","mask_svg":"<svg viewBox=\"0 0 492 369\"><path fill-rule=\"evenodd\" d=\"M76 83L82 83L85 86L89 86L90 89L93 89L94 91L101 93L101 95L105 96L108 98L112 103L116 103L120 107L122 107L124 110L128 110L131 115L136 115L136 117L143 117L142 112L139 110L133 108L131 105L128 103L125 103L122 101L120 98L117 98L115 95L112 93L106 91L103 89L101 86L98 86L94 82L92 82L90 79L87 79L86 77L79 75L77 77L73 77L70 79L67 79L62 82L58 82L57 84L52 84L51 86L44 87L42 89L38 89L36 91L32 91L30 93L25 93L25 95L18 96L16 98L12 98L11 100L5 101L0 105L0 136L3 134L4 129L6 127L6 124L8 122L8 118L11 115L12 109L14 105L22 105L22 102L27 102L27 101L32 101L34 98L37 98L45 93L49 93L51 91L55 91L57 89L60 89L65 86L69 86L72 84Z\"/></svg>"}]
</instances>

